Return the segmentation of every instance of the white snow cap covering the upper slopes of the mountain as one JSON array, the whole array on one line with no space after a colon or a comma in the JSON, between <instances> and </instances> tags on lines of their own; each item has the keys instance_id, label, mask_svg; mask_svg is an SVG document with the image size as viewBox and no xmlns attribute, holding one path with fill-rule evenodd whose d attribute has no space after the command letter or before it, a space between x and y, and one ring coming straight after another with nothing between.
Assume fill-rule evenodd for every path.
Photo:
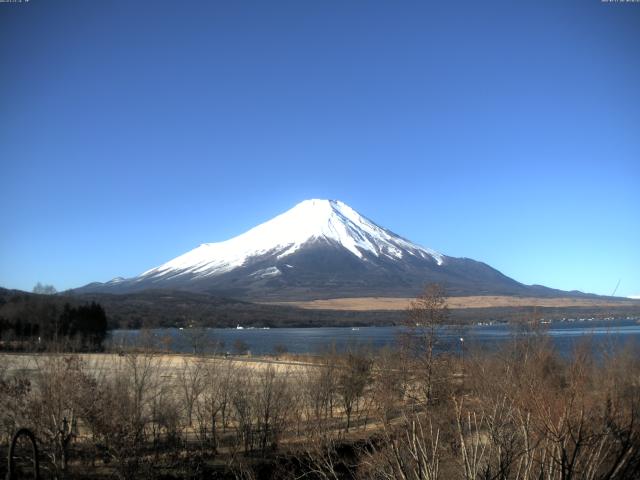
<instances>
[{"instance_id":1,"label":"white snow cap covering the upper slopes of the mountain","mask_svg":"<svg viewBox=\"0 0 640 480\"><path fill-rule=\"evenodd\" d=\"M230 240L202 244L144 272L138 281L184 274L215 276L242 266L251 257L273 254L284 258L314 241L338 244L361 259L368 253L391 259L431 257L438 265L443 262L441 254L379 227L343 202L311 199Z\"/></svg>"}]
</instances>

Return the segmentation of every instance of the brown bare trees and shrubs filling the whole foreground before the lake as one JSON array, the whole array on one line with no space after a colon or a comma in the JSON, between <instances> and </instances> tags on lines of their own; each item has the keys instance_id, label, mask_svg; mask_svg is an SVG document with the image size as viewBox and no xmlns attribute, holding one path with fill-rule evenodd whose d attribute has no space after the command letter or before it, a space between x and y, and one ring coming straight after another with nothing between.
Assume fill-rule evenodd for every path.
<instances>
[{"instance_id":1,"label":"brown bare trees and shrubs filling the whole foreground before the lake","mask_svg":"<svg viewBox=\"0 0 640 480\"><path fill-rule=\"evenodd\" d=\"M6 356L0 447L29 428L48 478L638 478L637 349L563 357L529 329L463 365L436 354L445 321L433 288L396 349Z\"/></svg>"}]
</instances>

